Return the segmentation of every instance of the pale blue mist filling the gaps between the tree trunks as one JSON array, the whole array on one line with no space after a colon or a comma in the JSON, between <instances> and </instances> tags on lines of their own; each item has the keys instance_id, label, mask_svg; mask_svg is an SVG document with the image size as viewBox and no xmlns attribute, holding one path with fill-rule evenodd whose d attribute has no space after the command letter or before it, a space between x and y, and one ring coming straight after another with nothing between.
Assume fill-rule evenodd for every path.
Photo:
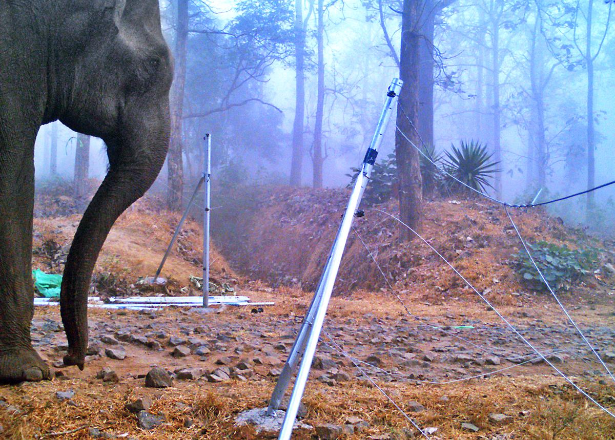
<instances>
[{"instance_id":1,"label":"pale blue mist filling the gaps between the tree trunks","mask_svg":"<svg viewBox=\"0 0 615 440\"><path fill-rule=\"evenodd\" d=\"M493 22L490 22L493 17L488 17L485 10L494 4L504 4L504 12L495 25L499 32L500 68L497 77L501 111L501 168L504 171L502 197L510 202L529 202L536 192L536 186L526 179L530 163L527 159L528 143L534 142L530 129L533 115L529 104L530 42L539 14L536 2L498 1L459 0L451 2L438 14L434 45L441 66L436 69L438 85L434 89L434 143L438 151L448 149L451 143L458 144L460 139L477 139L488 146L493 144L493 103L489 95L494 81L489 66L493 55L490 41L494 28ZM587 0L584 1L579 7L587 7ZM246 9L254 13L247 14L250 20L258 20L258 8L270 3L189 2L191 33L188 38L183 128L186 191L196 184L202 172L202 157L199 154L204 147L202 136L206 132L212 133L214 175L226 173L226 179L236 179L238 183L288 183L295 112L292 50L280 50L278 59L268 60L253 79L248 79L231 93L226 103L238 103L248 98L257 98L258 101L203 117L190 117L223 107L221 104L228 92L228 82L238 63L249 58L246 54L262 53L259 51L266 44L254 46L253 37L250 37L251 41L235 44L237 37L224 32L233 32L229 26L235 26L233 29L240 27L237 20L244 18ZM280 28L292 31L294 3L274 3L276 7L290 11L290 21L282 20ZM394 1L383 1L381 4L384 24L392 45L399 52L400 14L395 10L399 10L401 4ZM310 14L312 5L309 1L304 2L304 16ZM538 5L543 10L552 10L547 3ZM172 49L175 47L175 10L174 1L161 2L163 28ZM609 5L602 1L594 2L594 52L604 37L593 66L596 184L615 178L615 37L613 23L608 23L609 18L612 22ZM311 13L306 22L304 186L311 186L312 183L309 147L316 100L314 20L315 14ZM587 66L576 48L576 45L580 49L585 48L586 25L582 14L577 17L576 23L571 23L566 17L558 22L546 14L542 15L541 20L534 38L537 40L536 50L540 52L538 68L542 74L549 76L544 87L544 133L548 154L544 194L550 197L581 191L587 186ZM266 26L267 23L256 24L263 26L265 40L271 29ZM605 26L609 26L606 33ZM256 31L258 34L258 26ZM327 158L323 165L323 182L327 187L342 187L349 182L346 174L362 160L381 111L386 88L391 79L398 76L398 68L383 35L378 2L332 1L326 4L324 50L327 93L323 144ZM238 49L238 46L241 47ZM253 61L250 60L244 61L249 64ZM482 102L477 99L479 89L482 90ZM59 122L54 124L61 125ZM74 136L76 133L66 127L61 126L58 130L58 174L68 179L73 176ZM39 180L50 176L47 165L49 142L50 124L41 128L36 141L36 177ZM381 157L392 151L393 122L389 125ZM92 139L90 177L103 178L106 166L103 143L100 139ZM159 177L163 186L165 173L163 170ZM607 213L613 213L613 205L609 203L615 197L615 189L609 187L598 192L596 197ZM555 211L573 219L574 209L571 206L567 205L565 212L557 211L555 206Z\"/></svg>"}]
</instances>

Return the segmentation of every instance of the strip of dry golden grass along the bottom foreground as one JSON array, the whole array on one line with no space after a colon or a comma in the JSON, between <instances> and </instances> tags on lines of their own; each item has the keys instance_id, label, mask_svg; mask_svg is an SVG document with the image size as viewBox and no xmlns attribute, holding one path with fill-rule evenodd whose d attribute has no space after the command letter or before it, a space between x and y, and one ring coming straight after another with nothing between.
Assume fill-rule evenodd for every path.
<instances>
[{"instance_id":1,"label":"strip of dry golden grass along the bottom foreground","mask_svg":"<svg viewBox=\"0 0 615 440\"><path fill-rule=\"evenodd\" d=\"M602 404L613 408L615 388L593 382L579 383ZM272 380L223 385L191 382L180 383L170 390L152 391L142 388L141 380L131 385L114 386L77 380L25 384L2 389L2 398L20 407L23 414L9 415L0 410L0 424L7 440L52 438L50 433L81 426L143 440L259 439L264 437L257 435L253 428L234 426L234 417L245 409L265 406L273 385ZM561 380L549 376L523 380L499 378L464 385L387 383L381 386L405 411L410 401L422 403L426 411L408 414L419 426L437 426L434 439L480 439L496 434L537 440L615 438L612 418L587 403ZM77 391L73 398L76 406L58 401L54 395L58 389ZM124 409L125 403L145 394L154 398L151 412L164 414L165 418L164 424L151 432L137 428L135 416ZM448 400L443 401L443 396ZM311 425L345 423L350 415L370 423L370 428L349 439L385 433L391 434L392 439L402 439L409 428L413 430L394 406L365 380L337 387L312 380L304 403L308 407L308 417L304 421ZM510 423L493 425L488 420L492 412L510 415ZM195 422L190 428L184 425L188 418ZM462 422L474 423L480 428L479 433L462 431ZM308 439L310 435L309 431L303 431L295 438ZM87 429L60 438L85 439L88 438Z\"/></svg>"}]
</instances>

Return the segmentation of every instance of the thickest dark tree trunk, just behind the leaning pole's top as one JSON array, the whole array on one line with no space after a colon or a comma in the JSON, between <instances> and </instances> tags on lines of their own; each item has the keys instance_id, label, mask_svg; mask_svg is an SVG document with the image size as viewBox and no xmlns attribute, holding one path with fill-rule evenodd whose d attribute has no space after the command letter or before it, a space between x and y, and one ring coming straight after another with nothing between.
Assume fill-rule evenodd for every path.
<instances>
[{"instance_id":1,"label":"thickest dark tree trunk, just behind the leaning pole's top","mask_svg":"<svg viewBox=\"0 0 615 440\"><path fill-rule=\"evenodd\" d=\"M419 42L418 0L403 1L402 44L399 76L403 81L397 108L397 127L416 145L418 135L412 125L418 125L419 109ZM405 114L404 114L405 111ZM402 133L395 132L395 160L399 178L400 219L413 229L423 218L423 183L419 153ZM402 226L402 240L410 240L411 232Z\"/></svg>"}]
</instances>

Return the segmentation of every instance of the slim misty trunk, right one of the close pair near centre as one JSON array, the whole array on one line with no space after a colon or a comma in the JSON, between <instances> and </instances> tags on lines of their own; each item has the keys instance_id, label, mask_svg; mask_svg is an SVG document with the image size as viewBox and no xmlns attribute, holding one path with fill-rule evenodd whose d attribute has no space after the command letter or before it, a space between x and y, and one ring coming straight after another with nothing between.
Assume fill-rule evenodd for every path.
<instances>
[{"instance_id":1,"label":"slim misty trunk, right one of the close pair near centre","mask_svg":"<svg viewBox=\"0 0 615 440\"><path fill-rule=\"evenodd\" d=\"M318 29L316 33L318 52L318 90L316 99L316 120L314 122L314 146L312 148L312 170L314 188L322 188L322 119L325 112L325 54L323 39L325 38L324 4L318 0Z\"/></svg>"}]
</instances>

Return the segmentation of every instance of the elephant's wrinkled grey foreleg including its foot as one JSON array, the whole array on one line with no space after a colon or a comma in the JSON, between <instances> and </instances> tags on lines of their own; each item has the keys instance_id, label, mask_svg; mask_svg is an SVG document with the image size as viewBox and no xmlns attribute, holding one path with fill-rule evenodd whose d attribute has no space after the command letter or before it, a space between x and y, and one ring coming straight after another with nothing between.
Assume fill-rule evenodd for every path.
<instances>
[{"instance_id":1,"label":"elephant's wrinkled grey foreleg including its foot","mask_svg":"<svg viewBox=\"0 0 615 440\"><path fill-rule=\"evenodd\" d=\"M11 130L9 124L1 127L0 383L49 379L49 369L30 340L36 129Z\"/></svg>"}]
</instances>

